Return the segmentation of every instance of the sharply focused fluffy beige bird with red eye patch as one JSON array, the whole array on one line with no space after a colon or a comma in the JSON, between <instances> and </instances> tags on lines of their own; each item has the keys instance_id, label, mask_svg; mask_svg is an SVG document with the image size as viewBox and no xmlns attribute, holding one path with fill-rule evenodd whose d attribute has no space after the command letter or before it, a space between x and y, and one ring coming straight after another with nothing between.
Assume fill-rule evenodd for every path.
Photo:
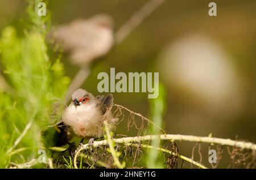
<instances>
[{"instance_id":1,"label":"sharply focused fluffy beige bird with red eye patch","mask_svg":"<svg viewBox=\"0 0 256 180\"><path fill-rule=\"evenodd\" d=\"M113 100L112 94L94 97L81 88L73 92L72 102L58 125L61 131L58 145L68 143L73 136L99 138L104 134L104 121L113 130L118 121L111 112Z\"/></svg>"}]
</instances>

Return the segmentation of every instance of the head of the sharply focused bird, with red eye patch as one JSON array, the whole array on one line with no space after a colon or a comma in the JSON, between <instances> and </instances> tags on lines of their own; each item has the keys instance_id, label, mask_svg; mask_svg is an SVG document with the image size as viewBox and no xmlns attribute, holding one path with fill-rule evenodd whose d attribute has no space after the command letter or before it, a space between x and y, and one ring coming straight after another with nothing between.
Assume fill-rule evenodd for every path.
<instances>
[{"instance_id":1,"label":"head of the sharply focused bird, with red eye patch","mask_svg":"<svg viewBox=\"0 0 256 180\"><path fill-rule=\"evenodd\" d=\"M72 105L77 107L77 106L82 106L82 105L88 105L91 104L93 100L93 95L84 89L77 89L75 92L72 94Z\"/></svg>"}]
</instances>

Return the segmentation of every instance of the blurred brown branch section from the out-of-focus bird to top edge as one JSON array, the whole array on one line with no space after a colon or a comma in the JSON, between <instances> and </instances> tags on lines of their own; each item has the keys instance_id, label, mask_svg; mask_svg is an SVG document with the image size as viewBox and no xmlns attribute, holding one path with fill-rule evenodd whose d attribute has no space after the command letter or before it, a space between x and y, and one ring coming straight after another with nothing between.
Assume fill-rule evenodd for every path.
<instances>
[{"instance_id":1,"label":"blurred brown branch section from the out-of-focus bird to top edge","mask_svg":"<svg viewBox=\"0 0 256 180\"><path fill-rule=\"evenodd\" d=\"M150 0L146 2L133 16L115 33L115 43L120 44L133 29L138 27L152 12L156 10L165 0Z\"/></svg>"}]
</instances>

